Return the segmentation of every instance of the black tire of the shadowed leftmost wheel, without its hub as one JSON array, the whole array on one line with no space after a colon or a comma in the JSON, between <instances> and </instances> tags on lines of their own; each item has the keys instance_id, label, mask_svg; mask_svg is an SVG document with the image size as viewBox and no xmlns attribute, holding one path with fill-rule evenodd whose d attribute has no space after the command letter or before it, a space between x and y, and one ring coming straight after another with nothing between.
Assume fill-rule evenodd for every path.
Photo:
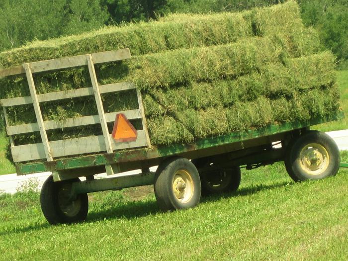
<instances>
[{"instance_id":1,"label":"black tire of the shadowed leftmost wheel, without its hub","mask_svg":"<svg viewBox=\"0 0 348 261\"><path fill-rule=\"evenodd\" d=\"M79 202L80 204L79 210L74 216L66 215L60 207L59 191L62 189L62 186L68 186L72 182L80 182L80 179L54 182L53 176L50 175L43 183L40 193L41 210L51 225L81 222L87 217L87 193L77 195L77 198L74 200L74 202Z\"/></svg>"}]
</instances>

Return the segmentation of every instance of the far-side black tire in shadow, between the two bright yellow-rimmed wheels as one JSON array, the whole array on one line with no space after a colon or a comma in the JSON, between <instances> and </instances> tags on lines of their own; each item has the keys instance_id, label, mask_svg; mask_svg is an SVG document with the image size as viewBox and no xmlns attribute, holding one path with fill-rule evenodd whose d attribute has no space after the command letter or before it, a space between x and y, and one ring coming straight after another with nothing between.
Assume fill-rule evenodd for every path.
<instances>
[{"instance_id":1,"label":"far-side black tire in shadow, between the two bright yellow-rimmed wheels","mask_svg":"<svg viewBox=\"0 0 348 261\"><path fill-rule=\"evenodd\" d=\"M209 158L200 158L191 161L197 169L210 166ZM220 175L222 183L216 179ZM230 167L212 173L199 174L202 184L202 195L208 196L215 193L227 193L236 191L241 184L241 169L239 167Z\"/></svg>"}]
</instances>

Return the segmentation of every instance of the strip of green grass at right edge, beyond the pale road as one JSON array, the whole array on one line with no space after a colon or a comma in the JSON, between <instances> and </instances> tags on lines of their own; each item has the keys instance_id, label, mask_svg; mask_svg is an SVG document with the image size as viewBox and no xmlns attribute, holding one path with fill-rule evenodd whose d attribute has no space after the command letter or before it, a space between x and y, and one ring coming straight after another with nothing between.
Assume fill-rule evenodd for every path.
<instances>
[{"instance_id":1,"label":"strip of green grass at right edge, beyond the pale road","mask_svg":"<svg viewBox=\"0 0 348 261\"><path fill-rule=\"evenodd\" d=\"M335 131L348 129L348 71L337 72L337 82L340 87L341 107L345 112L346 118L340 121L328 122L313 127L313 129L320 131Z\"/></svg>"}]
</instances>

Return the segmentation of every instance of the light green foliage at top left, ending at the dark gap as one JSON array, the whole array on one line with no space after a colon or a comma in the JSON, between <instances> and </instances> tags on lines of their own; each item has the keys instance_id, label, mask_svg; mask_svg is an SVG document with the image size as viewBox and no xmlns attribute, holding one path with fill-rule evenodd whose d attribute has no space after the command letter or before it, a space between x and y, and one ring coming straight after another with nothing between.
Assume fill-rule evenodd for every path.
<instances>
[{"instance_id":1,"label":"light green foliage at top left, ending at the dark gap","mask_svg":"<svg viewBox=\"0 0 348 261\"><path fill-rule=\"evenodd\" d=\"M5 50L98 28L109 15L99 0L2 0L0 17L0 50Z\"/></svg>"}]
</instances>

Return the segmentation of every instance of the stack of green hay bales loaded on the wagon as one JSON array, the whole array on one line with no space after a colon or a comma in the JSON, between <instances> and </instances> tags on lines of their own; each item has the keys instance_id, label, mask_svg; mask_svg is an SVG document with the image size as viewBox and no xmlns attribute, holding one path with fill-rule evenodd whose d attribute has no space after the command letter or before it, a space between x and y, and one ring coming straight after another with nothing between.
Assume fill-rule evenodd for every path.
<instances>
[{"instance_id":1,"label":"stack of green hay bales loaded on the wagon","mask_svg":"<svg viewBox=\"0 0 348 261\"><path fill-rule=\"evenodd\" d=\"M100 84L131 81L143 96L151 143L168 145L330 117L339 109L335 57L302 24L295 1L239 13L174 14L0 53L0 68L130 48L132 59L96 67ZM35 74L38 93L90 87L87 67ZM0 79L0 98L29 95L24 76ZM137 108L136 95L103 94L105 112ZM97 114L94 97L44 102L44 120ZM32 105L8 108L12 125L36 122ZM136 125L136 123L135 123ZM110 126L112 128L112 126ZM101 135L97 125L49 140ZM38 133L15 143L40 142Z\"/></svg>"}]
</instances>

